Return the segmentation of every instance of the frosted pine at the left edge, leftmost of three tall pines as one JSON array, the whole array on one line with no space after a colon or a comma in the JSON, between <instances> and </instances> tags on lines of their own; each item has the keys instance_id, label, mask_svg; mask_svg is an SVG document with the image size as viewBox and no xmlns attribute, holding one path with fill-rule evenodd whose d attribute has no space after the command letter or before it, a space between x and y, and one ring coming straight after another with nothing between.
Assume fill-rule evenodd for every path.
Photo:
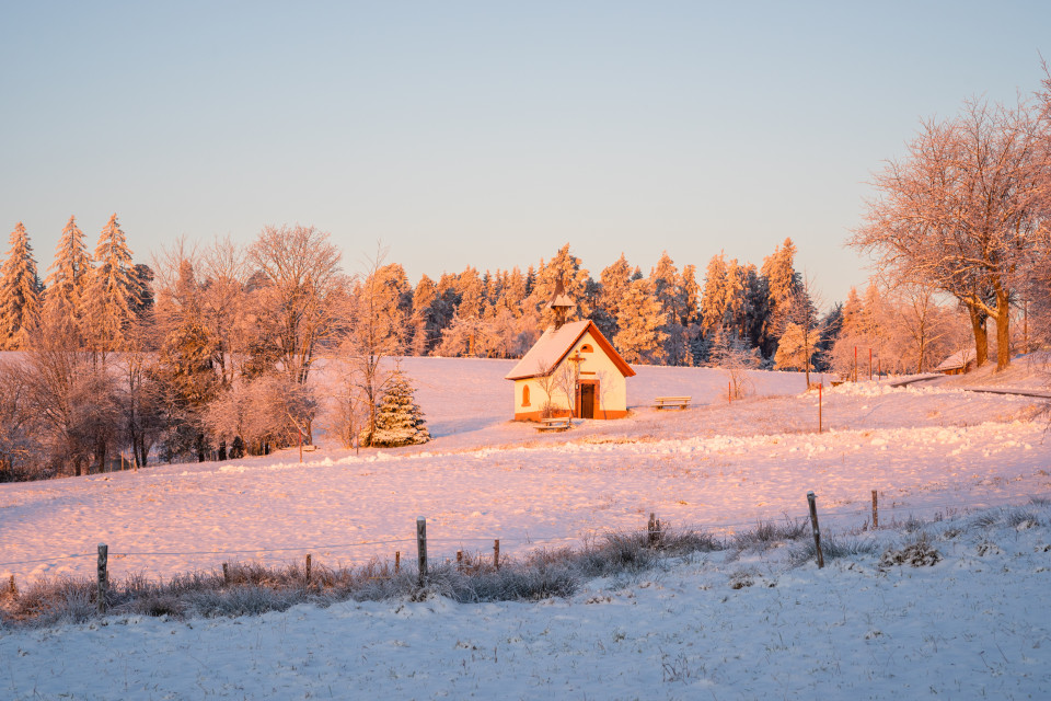
<instances>
[{"instance_id":1,"label":"frosted pine at the left edge, leftmost of three tall pines","mask_svg":"<svg viewBox=\"0 0 1051 701\"><path fill-rule=\"evenodd\" d=\"M11 250L0 267L0 348L25 348L30 329L39 319L41 279L25 227L11 232Z\"/></svg>"}]
</instances>

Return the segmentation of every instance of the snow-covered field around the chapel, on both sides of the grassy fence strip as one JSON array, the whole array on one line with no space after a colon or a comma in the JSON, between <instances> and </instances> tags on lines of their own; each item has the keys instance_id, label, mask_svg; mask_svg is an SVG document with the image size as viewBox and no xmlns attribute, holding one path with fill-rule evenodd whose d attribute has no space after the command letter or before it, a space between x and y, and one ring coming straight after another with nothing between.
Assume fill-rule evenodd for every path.
<instances>
[{"instance_id":1,"label":"snow-covered field around the chapel, on both sides of the grassy fence strip","mask_svg":"<svg viewBox=\"0 0 1051 701\"><path fill-rule=\"evenodd\" d=\"M973 515L1051 494L1040 400L863 382L825 390L818 434L818 395L799 393L799 375L753 372L755 395L728 404L717 370L640 367L628 418L538 435L507 421L510 366L407 358L437 437L425 446L354 455L322 443L303 464L284 451L0 485L0 574L88 575L99 542L116 577L308 552L411 556L417 516L437 558L495 538L512 554L579 543L651 512L729 535L802 517L810 490L832 533L866 522L873 490L883 525L948 518L933 536L946 560L880 572L879 552L903 536L879 532L866 536L881 539L875 554L823 571L788 566L784 549L713 553L541 604L342 604L0 633L0 696L1051 694L1051 514L1036 509L1026 528ZM650 409L662 394L691 394L694 407ZM945 537L949 522L960 533ZM731 588L742 577L752 586ZM100 667L109 681L91 686Z\"/></svg>"}]
</instances>

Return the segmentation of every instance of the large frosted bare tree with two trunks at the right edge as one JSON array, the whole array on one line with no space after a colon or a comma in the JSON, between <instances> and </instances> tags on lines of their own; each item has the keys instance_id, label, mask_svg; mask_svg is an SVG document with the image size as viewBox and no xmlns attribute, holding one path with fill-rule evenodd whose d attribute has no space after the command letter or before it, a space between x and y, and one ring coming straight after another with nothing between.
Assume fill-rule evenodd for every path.
<instances>
[{"instance_id":1,"label":"large frosted bare tree with two trunks at the right edge","mask_svg":"<svg viewBox=\"0 0 1051 701\"><path fill-rule=\"evenodd\" d=\"M1046 244L1047 124L1025 102L979 100L952 119L923 124L908 157L877 174L878 199L850 241L896 283L956 297L971 318L978 365L993 319L1001 370L1010 363L1013 298Z\"/></svg>"}]
</instances>

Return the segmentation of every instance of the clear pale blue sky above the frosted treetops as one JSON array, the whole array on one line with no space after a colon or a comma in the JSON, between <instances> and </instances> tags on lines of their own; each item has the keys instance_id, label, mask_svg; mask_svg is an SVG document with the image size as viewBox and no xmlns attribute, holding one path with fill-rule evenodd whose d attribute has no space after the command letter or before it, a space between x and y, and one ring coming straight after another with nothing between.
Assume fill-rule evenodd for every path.
<instances>
[{"instance_id":1,"label":"clear pale blue sky above the frosted treetops","mask_svg":"<svg viewBox=\"0 0 1051 701\"><path fill-rule=\"evenodd\" d=\"M792 237L825 302L920 119L1013 101L1048 2L0 3L0 233L378 240L413 283L570 243L703 273Z\"/></svg>"}]
</instances>

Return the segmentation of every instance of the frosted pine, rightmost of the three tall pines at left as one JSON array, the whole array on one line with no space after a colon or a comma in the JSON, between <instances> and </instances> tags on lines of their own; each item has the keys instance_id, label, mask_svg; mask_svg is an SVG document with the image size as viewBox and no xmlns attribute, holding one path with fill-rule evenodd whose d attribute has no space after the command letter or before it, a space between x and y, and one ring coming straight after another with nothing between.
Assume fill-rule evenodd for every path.
<instances>
[{"instance_id":1,"label":"frosted pine, rightmost of the three tall pines at left","mask_svg":"<svg viewBox=\"0 0 1051 701\"><path fill-rule=\"evenodd\" d=\"M117 215L99 235L97 265L88 280L83 304L85 334L94 350L105 354L125 345L125 332L134 318L136 280L131 276L131 251Z\"/></svg>"}]
</instances>

